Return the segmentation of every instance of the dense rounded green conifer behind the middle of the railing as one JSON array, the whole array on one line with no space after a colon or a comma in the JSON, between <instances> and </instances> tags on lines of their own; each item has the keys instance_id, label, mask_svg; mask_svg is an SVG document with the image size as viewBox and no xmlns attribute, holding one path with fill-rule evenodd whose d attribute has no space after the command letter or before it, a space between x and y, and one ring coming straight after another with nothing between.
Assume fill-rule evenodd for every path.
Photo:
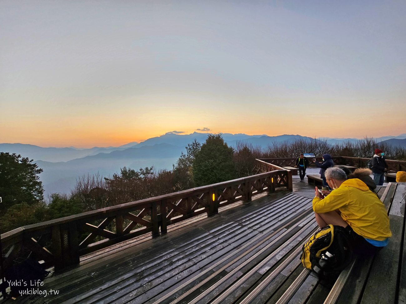
<instances>
[{"instance_id":1,"label":"dense rounded green conifer behind the middle of the railing","mask_svg":"<svg viewBox=\"0 0 406 304\"><path fill-rule=\"evenodd\" d=\"M192 173L196 186L236 178L233 148L224 142L220 134L209 135L194 158Z\"/></svg>"}]
</instances>

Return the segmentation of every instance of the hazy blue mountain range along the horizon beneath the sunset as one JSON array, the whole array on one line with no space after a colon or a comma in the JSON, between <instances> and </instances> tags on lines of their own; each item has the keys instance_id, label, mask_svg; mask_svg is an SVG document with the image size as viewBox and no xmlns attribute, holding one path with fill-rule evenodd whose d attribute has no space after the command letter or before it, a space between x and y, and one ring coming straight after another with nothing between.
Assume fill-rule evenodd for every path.
<instances>
[{"instance_id":1,"label":"hazy blue mountain range along the horizon beneath the sunset","mask_svg":"<svg viewBox=\"0 0 406 304\"><path fill-rule=\"evenodd\" d=\"M119 147L93 147L93 148L43 148L21 143L1 143L1 152L21 154L23 157L33 159L38 167L43 169L40 180L43 182L45 195L50 193L69 193L80 176L99 173L101 176L112 176L122 167L139 169L151 167L156 169L172 169L185 147L196 139L203 143L208 133L194 132L188 135L166 133L152 137L143 142L131 142ZM238 141L251 143L253 146L266 148L274 142L289 142L297 139L313 140L301 135L246 135L222 133L222 137L229 146L236 146ZM389 140L401 140L406 134L391 137ZM387 137L381 137L385 140ZM318 140L318 139L317 139ZM357 141L358 139L320 138L328 143L342 143ZM378 139L379 140L379 139ZM406 140L405 140L406 141ZM398 143L398 142L397 142Z\"/></svg>"}]
</instances>

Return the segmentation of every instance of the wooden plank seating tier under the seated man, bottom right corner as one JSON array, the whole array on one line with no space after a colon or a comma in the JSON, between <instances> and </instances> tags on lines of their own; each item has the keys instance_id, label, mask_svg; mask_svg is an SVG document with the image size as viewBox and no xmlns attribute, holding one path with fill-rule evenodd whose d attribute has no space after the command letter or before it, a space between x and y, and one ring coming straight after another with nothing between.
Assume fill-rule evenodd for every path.
<instances>
[{"instance_id":1,"label":"wooden plank seating tier under the seated man, bottom right corner","mask_svg":"<svg viewBox=\"0 0 406 304\"><path fill-rule=\"evenodd\" d=\"M341 272L324 304L406 303L406 183L389 183L381 201L388 210L392 238L374 257L357 257Z\"/></svg>"}]
</instances>

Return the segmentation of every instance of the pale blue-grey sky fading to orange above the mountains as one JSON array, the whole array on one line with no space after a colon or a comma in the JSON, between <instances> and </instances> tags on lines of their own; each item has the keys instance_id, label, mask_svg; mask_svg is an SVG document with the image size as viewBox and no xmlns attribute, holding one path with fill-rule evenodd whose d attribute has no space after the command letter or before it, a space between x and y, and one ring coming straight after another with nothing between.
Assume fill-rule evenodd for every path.
<instances>
[{"instance_id":1,"label":"pale blue-grey sky fading to orange above the mountains","mask_svg":"<svg viewBox=\"0 0 406 304\"><path fill-rule=\"evenodd\" d=\"M2 0L0 143L406 133L405 15L405 1Z\"/></svg>"}]
</instances>

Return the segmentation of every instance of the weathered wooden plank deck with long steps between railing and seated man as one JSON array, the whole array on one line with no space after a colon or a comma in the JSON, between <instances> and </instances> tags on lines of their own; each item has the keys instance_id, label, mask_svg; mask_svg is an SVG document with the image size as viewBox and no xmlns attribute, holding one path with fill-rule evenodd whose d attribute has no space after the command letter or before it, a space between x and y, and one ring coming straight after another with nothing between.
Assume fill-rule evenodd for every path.
<instances>
[{"instance_id":1,"label":"weathered wooden plank deck with long steps between railing and seated man","mask_svg":"<svg viewBox=\"0 0 406 304\"><path fill-rule=\"evenodd\" d=\"M293 176L293 189L93 252L81 257L79 267L45 278L39 289L48 291L46 297L6 303L321 304L331 287L299 260L303 242L317 229L314 188Z\"/></svg>"}]
</instances>

